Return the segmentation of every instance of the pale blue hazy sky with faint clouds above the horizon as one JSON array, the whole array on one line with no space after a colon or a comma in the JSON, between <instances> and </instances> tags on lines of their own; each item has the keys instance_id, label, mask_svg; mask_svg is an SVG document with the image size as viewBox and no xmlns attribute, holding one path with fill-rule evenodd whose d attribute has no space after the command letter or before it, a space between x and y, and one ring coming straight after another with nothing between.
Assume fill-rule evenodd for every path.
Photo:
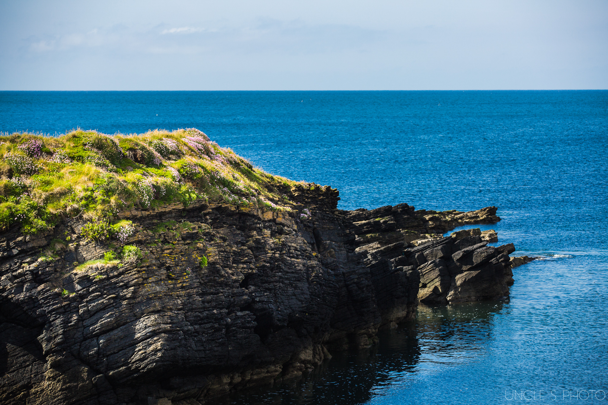
<instances>
[{"instance_id":1,"label":"pale blue hazy sky with faint clouds above the horizon","mask_svg":"<svg viewBox=\"0 0 608 405\"><path fill-rule=\"evenodd\" d=\"M0 0L0 90L608 89L608 0Z\"/></svg>"}]
</instances>

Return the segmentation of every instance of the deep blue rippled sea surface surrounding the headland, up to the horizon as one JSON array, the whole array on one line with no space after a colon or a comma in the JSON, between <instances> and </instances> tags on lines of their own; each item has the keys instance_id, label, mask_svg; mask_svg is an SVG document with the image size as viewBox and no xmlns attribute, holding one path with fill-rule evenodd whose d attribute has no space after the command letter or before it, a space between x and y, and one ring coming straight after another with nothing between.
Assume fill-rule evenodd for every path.
<instances>
[{"instance_id":1,"label":"deep blue rippled sea surface surrounding the headland, up to the horizon","mask_svg":"<svg viewBox=\"0 0 608 405\"><path fill-rule=\"evenodd\" d=\"M375 347L238 404L608 400L608 91L0 92L0 131L198 128L339 208L496 205L499 243L544 259L507 301L425 307Z\"/></svg>"}]
</instances>

